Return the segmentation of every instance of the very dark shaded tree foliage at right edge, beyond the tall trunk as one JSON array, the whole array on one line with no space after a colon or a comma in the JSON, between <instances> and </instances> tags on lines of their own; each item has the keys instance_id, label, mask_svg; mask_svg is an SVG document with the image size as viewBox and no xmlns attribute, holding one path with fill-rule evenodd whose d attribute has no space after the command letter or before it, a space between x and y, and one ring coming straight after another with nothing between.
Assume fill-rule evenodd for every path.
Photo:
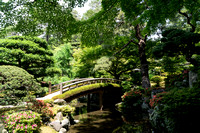
<instances>
[{"instance_id":1,"label":"very dark shaded tree foliage at right edge, beyond the tall trunk","mask_svg":"<svg viewBox=\"0 0 200 133\"><path fill-rule=\"evenodd\" d=\"M199 54L200 47L195 44L200 42L200 34L179 29L168 29L162 33L162 36L162 43L155 47L154 55L157 57L184 55L188 62L197 65L192 55Z\"/></svg>"}]
</instances>

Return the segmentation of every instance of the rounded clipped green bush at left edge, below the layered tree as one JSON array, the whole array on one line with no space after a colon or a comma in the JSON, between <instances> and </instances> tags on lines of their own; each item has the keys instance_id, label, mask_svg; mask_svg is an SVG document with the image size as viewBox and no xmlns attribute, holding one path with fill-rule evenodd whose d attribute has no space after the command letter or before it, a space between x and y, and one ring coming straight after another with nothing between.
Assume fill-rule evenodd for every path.
<instances>
[{"instance_id":1,"label":"rounded clipped green bush at left edge, below the layered tree","mask_svg":"<svg viewBox=\"0 0 200 133\"><path fill-rule=\"evenodd\" d=\"M0 66L0 105L15 104L39 89L27 71L16 66Z\"/></svg>"}]
</instances>

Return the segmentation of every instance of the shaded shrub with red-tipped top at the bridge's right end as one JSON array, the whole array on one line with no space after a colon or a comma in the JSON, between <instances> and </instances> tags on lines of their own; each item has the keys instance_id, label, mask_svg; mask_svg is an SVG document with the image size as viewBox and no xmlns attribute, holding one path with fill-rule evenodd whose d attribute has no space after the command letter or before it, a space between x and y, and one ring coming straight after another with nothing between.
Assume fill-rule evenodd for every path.
<instances>
[{"instance_id":1,"label":"shaded shrub with red-tipped top at the bridge's right end","mask_svg":"<svg viewBox=\"0 0 200 133\"><path fill-rule=\"evenodd\" d=\"M142 93L140 90L130 90L122 96L121 111L129 122L140 119L142 116Z\"/></svg>"}]
</instances>

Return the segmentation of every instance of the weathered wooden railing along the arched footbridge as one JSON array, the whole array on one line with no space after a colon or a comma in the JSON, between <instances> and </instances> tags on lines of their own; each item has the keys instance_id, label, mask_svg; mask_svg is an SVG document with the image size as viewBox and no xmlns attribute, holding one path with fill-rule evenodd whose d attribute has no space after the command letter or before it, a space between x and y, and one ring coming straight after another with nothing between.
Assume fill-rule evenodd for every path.
<instances>
[{"instance_id":1,"label":"weathered wooden railing along the arched footbridge","mask_svg":"<svg viewBox=\"0 0 200 133\"><path fill-rule=\"evenodd\" d=\"M94 84L94 83L118 83L119 80L111 79L111 78L84 78L84 79L75 79L71 81L62 82L60 84L56 84L49 87L49 92L51 93L52 88L56 88L56 90L60 89L60 94L64 91L72 90L77 87L81 87L84 85Z\"/></svg>"}]
</instances>

